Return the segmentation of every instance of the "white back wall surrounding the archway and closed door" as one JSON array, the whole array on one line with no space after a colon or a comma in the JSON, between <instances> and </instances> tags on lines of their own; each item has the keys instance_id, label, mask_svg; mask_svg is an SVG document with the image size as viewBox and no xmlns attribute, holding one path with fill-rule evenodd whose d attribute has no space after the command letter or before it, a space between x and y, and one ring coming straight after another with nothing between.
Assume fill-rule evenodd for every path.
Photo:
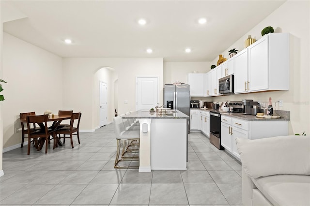
<instances>
[{"instance_id":1,"label":"white back wall surrounding the archway and closed door","mask_svg":"<svg viewBox=\"0 0 310 206\"><path fill-rule=\"evenodd\" d=\"M63 105L83 113L81 130L93 131L99 125L93 76L100 68L111 67L118 76L118 114L136 108L136 76L159 77L159 102L163 102L162 58L65 58L62 67L64 77L70 76L63 83Z\"/></svg>"}]
</instances>

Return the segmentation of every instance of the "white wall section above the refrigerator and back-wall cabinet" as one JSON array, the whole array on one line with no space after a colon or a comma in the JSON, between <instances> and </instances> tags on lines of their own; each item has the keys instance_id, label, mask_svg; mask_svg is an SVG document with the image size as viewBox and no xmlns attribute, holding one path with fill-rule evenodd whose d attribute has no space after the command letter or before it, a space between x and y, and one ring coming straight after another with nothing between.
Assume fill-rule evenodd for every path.
<instances>
[{"instance_id":1,"label":"white wall section above the refrigerator and back-wall cabinet","mask_svg":"<svg viewBox=\"0 0 310 206\"><path fill-rule=\"evenodd\" d=\"M201 62L164 62L164 84L171 84L177 81L187 84L188 73L207 73L212 63Z\"/></svg>"}]
</instances>

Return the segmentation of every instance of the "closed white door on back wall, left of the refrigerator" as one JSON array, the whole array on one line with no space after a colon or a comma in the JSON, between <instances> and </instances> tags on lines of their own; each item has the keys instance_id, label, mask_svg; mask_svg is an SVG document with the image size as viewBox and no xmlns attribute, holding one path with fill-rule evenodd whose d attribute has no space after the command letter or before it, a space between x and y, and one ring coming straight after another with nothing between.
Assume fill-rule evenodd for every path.
<instances>
[{"instance_id":1,"label":"closed white door on back wall, left of the refrigerator","mask_svg":"<svg viewBox=\"0 0 310 206\"><path fill-rule=\"evenodd\" d=\"M137 77L136 110L155 108L158 103L158 78Z\"/></svg>"}]
</instances>

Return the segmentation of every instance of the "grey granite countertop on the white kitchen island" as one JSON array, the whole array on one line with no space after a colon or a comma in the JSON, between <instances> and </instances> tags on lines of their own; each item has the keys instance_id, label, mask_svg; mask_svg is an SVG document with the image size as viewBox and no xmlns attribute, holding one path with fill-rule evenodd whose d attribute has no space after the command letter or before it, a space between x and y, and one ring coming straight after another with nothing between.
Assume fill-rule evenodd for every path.
<instances>
[{"instance_id":1,"label":"grey granite countertop on the white kitchen island","mask_svg":"<svg viewBox=\"0 0 310 206\"><path fill-rule=\"evenodd\" d=\"M129 119L129 118L151 118L151 119L188 119L189 117L180 112L179 110L173 110L176 112L167 112L167 115L165 114L160 114L156 112L150 112L149 110L139 110L133 113L130 113L129 115L124 116L124 119Z\"/></svg>"}]
</instances>

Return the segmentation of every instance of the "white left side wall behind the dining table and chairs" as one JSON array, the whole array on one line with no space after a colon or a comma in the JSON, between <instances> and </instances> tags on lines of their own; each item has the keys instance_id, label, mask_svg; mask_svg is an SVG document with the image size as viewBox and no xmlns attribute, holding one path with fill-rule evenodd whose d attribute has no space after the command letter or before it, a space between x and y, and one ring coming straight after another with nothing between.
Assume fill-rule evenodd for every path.
<instances>
[{"instance_id":1,"label":"white left side wall behind the dining table and chairs","mask_svg":"<svg viewBox=\"0 0 310 206\"><path fill-rule=\"evenodd\" d=\"M62 107L62 58L3 32L3 147L21 142L19 113Z\"/></svg>"}]
</instances>

